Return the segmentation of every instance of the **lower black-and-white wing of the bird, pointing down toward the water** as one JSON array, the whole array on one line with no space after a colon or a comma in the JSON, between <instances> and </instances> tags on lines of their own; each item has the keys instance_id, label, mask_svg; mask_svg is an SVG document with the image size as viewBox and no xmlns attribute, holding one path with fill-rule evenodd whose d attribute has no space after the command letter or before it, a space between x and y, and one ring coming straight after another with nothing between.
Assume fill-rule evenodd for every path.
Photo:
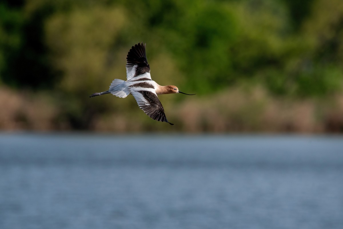
<instances>
[{"instance_id":1,"label":"lower black-and-white wing of the bird, pointing down toward the water","mask_svg":"<svg viewBox=\"0 0 343 229\"><path fill-rule=\"evenodd\" d=\"M133 97L136 99L139 108L141 108L144 113L146 113L150 118L161 121L168 122L166 115L164 113L163 106L156 93L151 91L131 91ZM173 123L168 122L170 125Z\"/></svg>"}]
</instances>

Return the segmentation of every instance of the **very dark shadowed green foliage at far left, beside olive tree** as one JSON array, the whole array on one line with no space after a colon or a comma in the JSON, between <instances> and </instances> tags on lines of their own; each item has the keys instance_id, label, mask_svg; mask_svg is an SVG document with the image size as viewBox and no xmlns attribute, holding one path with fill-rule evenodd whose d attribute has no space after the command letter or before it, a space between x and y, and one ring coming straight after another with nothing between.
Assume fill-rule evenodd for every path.
<instances>
[{"instance_id":1,"label":"very dark shadowed green foliage at far left, beside olive tree","mask_svg":"<svg viewBox=\"0 0 343 229\"><path fill-rule=\"evenodd\" d=\"M16 88L44 88L56 82L58 73L48 60L43 31L44 21L52 12L48 4L28 17L17 7L5 10L0 24L12 37L3 45L5 58L0 72L4 83Z\"/></svg>"}]
</instances>

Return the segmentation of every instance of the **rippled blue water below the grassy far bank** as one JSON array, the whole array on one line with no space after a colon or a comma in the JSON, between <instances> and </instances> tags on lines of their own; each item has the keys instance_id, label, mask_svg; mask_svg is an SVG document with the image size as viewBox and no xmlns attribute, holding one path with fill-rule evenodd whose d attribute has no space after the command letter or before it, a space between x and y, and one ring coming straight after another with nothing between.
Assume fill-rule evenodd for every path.
<instances>
[{"instance_id":1,"label":"rippled blue water below the grassy far bank","mask_svg":"<svg viewBox=\"0 0 343 229\"><path fill-rule=\"evenodd\" d=\"M2 133L0 228L342 229L343 137Z\"/></svg>"}]
</instances>

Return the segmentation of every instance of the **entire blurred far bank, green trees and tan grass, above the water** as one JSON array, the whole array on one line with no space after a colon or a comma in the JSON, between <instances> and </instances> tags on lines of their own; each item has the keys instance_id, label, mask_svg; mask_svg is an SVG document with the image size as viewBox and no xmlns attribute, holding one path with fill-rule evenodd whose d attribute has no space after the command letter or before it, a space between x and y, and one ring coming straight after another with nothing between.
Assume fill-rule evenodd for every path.
<instances>
[{"instance_id":1,"label":"entire blurred far bank, green trees and tan grass, above the water","mask_svg":"<svg viewBox=\"0 0 343 229\"><path fill-rule=\"evenodd\" d=\"M341 0L1 1L0 129L342 132L342 40ZM197 94L159 96L172 128L88 97L139 42L153 80Z\"/></svg>"}]
</instances>

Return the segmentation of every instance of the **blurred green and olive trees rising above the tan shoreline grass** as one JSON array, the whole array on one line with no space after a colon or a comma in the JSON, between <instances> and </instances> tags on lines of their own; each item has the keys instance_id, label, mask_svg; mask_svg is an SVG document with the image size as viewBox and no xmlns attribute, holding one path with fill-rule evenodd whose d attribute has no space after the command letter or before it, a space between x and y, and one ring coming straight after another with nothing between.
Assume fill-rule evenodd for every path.
<instances>
[{"instance_id":1,"label":"blurred green and olive trees rising above the tan shoreline grass","mask_svg":"<svg viewBox=\"0 0 343 229\"><path fill-rule=\"evenodd\" d=\"M1 2L0 82L48 89L69 101L59 104L66 119L80 120L94 106L89 94L125 79L127 51L143 41L154 80L187 93L243 82L277 96L325 97L342 89L342 40L341 0Z\"/></svg>"}]
</instances>

